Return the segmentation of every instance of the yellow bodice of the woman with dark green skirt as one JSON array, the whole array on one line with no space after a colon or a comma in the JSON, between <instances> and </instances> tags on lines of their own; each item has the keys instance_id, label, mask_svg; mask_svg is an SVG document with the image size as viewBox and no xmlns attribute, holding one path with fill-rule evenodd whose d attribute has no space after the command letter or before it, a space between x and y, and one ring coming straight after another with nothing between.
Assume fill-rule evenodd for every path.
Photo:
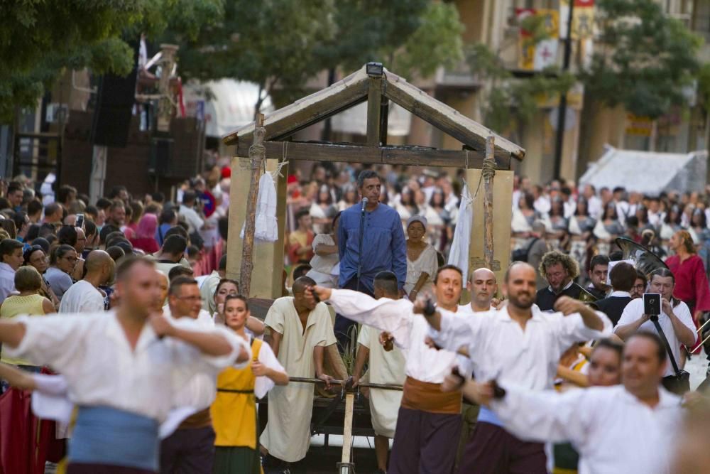
<instances>
[{"instance_id":1,"label":"yellow bodice of the woman with dark green skirt","mask_svg":"<svg viewBox=\"0 0 710 474\"><path fill-rule=\"evenodd\" d=\"M258 360L262 341L251 343L252 362ZM217 397L212 403L214 446L247 446L256 449L256 377L251 362L243 369L228 367L217 377Z\"/></svg>"}]
</instances>

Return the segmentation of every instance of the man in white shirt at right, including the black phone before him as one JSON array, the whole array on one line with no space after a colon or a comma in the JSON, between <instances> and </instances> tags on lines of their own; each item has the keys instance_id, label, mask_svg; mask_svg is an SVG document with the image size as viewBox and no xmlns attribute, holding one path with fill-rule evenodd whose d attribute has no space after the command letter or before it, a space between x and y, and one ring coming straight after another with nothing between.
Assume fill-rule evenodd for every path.
<instances>
[{"instance_id":1,"label":"man in white shirt at right, including the black phone before him","mask_svg":"<svg viewBox=\"0 0 710 474\"><path fill-rule=\"evenodd\" d=\"M675 277L669 269L656 269L648 278L649 293L628 303L614 333L627 340L638 330L648 330L657 333L661 340L667 340L669 357L663 385L671 392L687 392L688 373L679 367L682 363L680 346L692 348L695 344L693 318L687 304L673 297Z\"/></svg>"}]
</instances>

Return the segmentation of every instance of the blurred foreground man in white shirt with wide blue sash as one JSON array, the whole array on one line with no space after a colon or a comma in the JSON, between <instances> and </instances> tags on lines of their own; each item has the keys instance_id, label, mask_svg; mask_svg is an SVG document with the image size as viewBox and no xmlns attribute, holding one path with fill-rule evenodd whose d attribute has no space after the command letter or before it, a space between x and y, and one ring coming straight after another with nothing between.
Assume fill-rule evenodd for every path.
<instances>
[{"instance_id":1,"label":"blurred foreground man in white shirt with wide blue sash","mask_svg":"<svg viewBox=\"0 0 710 474\"><path fill-rule=\"evenodd\" d=\"M175 392L195 374L216 377L251 358L249 344L229 330L155 311L158 277L144 257L121 262L116 291L119 306L108 313L0 321L4 348L60 372L78 406L67 473L156 472L158 425Z\"/></svg>"}]
</instances>

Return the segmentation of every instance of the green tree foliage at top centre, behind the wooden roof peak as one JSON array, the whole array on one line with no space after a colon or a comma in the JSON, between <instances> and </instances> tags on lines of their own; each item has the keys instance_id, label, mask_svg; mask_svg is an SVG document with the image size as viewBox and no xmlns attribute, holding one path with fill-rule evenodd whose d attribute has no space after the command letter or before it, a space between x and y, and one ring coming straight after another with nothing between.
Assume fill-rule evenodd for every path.
<instances>
[{"instance_id":1,"label":"green tree foliage at top centre, behind the wooden roof peak","mask_svg":"<svg viewBox=\"0 0 710 474\"><path fill-rule=\"evenodd\" d=\"M405 77L431 75L462 58L462 30L455 6L432 0L235 0L178 56L186 77L256 82L262 97L285 104L319 72L372 60Z\"/></svg>"}]
</instances>

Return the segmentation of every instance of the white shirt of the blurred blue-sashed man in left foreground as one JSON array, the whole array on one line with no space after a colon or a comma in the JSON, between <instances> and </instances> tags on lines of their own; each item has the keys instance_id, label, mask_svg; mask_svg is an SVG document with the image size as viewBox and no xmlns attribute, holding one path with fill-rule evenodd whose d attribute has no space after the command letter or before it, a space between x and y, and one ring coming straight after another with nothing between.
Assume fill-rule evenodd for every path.
<instances>
[{"instance_id":1,"label":"white shirt of the blurred blue-sashed man in left foreground","mask_svg":"<svg viewBox=\"0 0 710 474\"><path fill-rule=\"evenodd\" d=\"M66 315L62 318L18 316L26 333L13 357L48 365L67 381L73 404L111 406L164 421L175 406L175 394L198 373L217 375L232 365L246 341L224 328L205 329L185 318L171 321L181 328L221 334L232 351L222 357L204 355L175 338L159 339L146 323L131 349L116 311ZM251 357L251 356L250 356Z\"/></svg>"}]
</instances>

